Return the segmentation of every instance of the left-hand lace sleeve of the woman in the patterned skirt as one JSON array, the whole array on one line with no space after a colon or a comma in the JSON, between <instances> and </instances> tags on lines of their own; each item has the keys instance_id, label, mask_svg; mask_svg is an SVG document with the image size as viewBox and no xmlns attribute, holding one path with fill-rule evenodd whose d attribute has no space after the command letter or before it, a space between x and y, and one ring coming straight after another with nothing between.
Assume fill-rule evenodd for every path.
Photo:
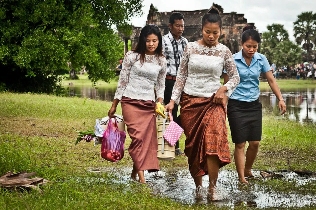
<instances>
[{"instance_id":1,"label":"left-hand lace sleeve of the woman in the patterned skirt","mask_svg":"<svg viewBox=\"0 0 316 210\"><path fill-rule=\"evenodd\" d=\"M177 104L180 102L180 98L184 89L186 78L188 77L188 63L189 63L189 44L187 44L183 51L182 60L179 65L177 79L174 83L171 99Z\"/></svg>"}]
</instances>

